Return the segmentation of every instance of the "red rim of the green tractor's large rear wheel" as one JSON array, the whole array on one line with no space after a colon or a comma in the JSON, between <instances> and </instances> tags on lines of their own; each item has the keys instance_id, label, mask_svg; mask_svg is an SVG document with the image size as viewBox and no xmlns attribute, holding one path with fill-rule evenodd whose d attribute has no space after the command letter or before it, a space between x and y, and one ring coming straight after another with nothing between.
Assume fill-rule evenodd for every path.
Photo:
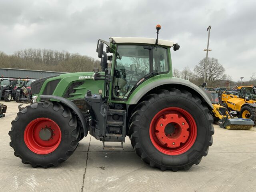
<instances>
[{"instance_id":1,"label":"red rim of the green tractor's large rear wheel","mask_svg":"<svg viewBox=\"0 0 256 192\"><path fill-rule=\"evenodd\" d=\"M167 155L179 155L193 146L197 127L188 111L168 107L154 116L149 133L150 140L157 150Z\"/></svg>"}]
</instances>

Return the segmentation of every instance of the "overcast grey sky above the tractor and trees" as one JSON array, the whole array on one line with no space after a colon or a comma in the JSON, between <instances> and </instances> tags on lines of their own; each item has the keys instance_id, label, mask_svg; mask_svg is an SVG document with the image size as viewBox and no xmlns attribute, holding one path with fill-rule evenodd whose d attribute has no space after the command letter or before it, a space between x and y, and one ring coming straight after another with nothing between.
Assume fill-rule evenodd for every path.
<instances>
[{"instance_id":1,"label":"overcast grey sky above the tractor and trees","mask_svg":"<svg viewBox=\"0 0 256 192\"><path fill-rule=\"evenodd\" d=\"M110 36L159 38L180 44L174 68L217 58L232 80L256 72L255 0L0 0L0 51L66 50L97 58L97 40Z\"/></svg>"}]
</instances>

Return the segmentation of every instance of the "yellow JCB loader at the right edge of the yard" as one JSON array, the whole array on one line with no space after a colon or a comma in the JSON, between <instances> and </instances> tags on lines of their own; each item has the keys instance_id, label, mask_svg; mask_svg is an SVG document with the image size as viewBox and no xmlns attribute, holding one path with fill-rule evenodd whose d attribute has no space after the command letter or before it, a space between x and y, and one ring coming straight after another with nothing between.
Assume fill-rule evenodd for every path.
<instances>
[{"instance_id":1,"label":"yellow JCB loader at the right edge of the yard","mask_svg":"<svg viewBox=\"0 0 256 192\"><path fill-rule=\"evenodd\" d=\"M222 98L222 106L228 108L232 116L252 119L256 124L256 89L252 86L238 87L238 98Z\"/></svg>"}]
</instances>

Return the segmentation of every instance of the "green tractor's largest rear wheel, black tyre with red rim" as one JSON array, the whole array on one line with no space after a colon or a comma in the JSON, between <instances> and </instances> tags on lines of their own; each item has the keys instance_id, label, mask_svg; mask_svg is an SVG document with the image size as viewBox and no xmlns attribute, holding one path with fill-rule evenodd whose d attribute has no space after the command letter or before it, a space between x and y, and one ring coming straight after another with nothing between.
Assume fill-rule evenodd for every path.
<instances>
[{"instance_id":1,"label":"green tractor's largest rear wheel, black tyre with red rim","mask_svg":"<svg viewBox=\"0 0 256 192\"><path fill-rule=\"evenodd\" d=\"M186 90L159 90L138 104L130 118L132 146L142 160L161 170L188 170L212 145L212 115Z\"/></svg>"}]
</instances>

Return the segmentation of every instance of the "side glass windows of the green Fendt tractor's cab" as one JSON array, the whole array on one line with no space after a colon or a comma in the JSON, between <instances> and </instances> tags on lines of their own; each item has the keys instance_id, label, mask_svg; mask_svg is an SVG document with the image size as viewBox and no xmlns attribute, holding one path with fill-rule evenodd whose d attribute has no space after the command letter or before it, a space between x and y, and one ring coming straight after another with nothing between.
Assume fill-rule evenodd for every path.
<instances>
[{"instance_id":1,"label":"side glass windows of the green Fendt tractor's cab","mask_svg":"<svg viewBox=\"0 0 256 192\"><path fill-rule=\"evenodd\" d=\"M169 71L168 50L160 46L119 45L114 70L113 98L125 100L145 79Z\"/></svg>"}]
</instances>

